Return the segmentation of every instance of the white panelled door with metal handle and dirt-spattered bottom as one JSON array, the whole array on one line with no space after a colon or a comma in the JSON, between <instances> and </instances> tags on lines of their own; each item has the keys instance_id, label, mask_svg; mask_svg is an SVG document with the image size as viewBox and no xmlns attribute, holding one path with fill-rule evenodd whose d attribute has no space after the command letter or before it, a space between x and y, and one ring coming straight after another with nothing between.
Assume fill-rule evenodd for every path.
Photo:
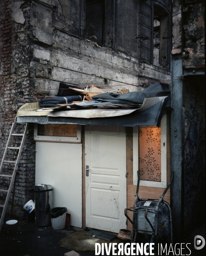
<instances>
[{"instance_id":1,"label":"white panelled door with metal handle and dirt-spattered bottom","mask_svg":"<svg viewBox=\"0 0 206 256\"><path fill-rule=\"evenodd\" d=\"M126 228L126 137L117 126L85 127L86 226Z\"/></svg>"}]
</instances>

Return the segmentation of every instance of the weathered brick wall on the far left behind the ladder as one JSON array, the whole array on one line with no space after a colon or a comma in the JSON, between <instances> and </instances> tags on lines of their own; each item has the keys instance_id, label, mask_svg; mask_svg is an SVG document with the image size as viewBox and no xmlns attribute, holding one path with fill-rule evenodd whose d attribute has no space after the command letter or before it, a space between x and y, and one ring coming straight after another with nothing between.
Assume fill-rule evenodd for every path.
<instances>
[{"instance_id":1,"label":"weathered brick wall on the far left behind the ladder","mask_svg":"<svg viewBox=\"0 0 206 256\"><path fill-rule=\"evenodd\" d=\"M24 103L37 101L40 98L39 95L31 95L29 88L32 87L32 83L27 80L31 48L28 37L30 23L28 2L0 0L0 160L17 110ZM23 125L17 127L18 132L21 133ZM23 215L23 205L33 199L35 143L32 137L33 129L32 125L29 125L29 133L17 172L13 214L18 216ZM8 156L7 160L15 160L16 151L9 150ZM3 173L11 174L13 169L14 164L5 164ZM1 177L0 187L8 188L9 181L10 178ZM4 202L5 197L6 193L0 192L0 200Z\"/></svg>"}]
</instances>

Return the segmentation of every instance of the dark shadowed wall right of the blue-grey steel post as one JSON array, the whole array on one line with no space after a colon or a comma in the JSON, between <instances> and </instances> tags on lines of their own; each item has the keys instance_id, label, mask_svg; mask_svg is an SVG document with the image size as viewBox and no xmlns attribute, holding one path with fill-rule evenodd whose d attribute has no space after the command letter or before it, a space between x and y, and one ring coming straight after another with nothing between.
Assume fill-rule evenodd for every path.
<instances>
[{"instance_id":1,"label":"dark shadowed wall right of the blue-grey steel post","mask_svg":"<svg viewBox=\"0 0 206 256\"><path fill-rule=\"evenodd\" d=\"M198 84L197 84L198 81ZM194 87L194 84L197 86ZM189 77L185 88L185 233L205 217L205 99L204 76Z\"/></svg>"}]
</instances>

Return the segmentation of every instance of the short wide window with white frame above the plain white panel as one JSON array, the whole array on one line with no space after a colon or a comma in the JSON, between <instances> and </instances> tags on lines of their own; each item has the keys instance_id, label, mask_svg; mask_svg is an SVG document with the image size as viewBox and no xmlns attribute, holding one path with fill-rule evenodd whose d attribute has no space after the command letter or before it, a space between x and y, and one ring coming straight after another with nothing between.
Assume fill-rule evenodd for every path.
<instances>
[{"instance_id":1,"label":"short wide window with white frame above the plain white panel","mask_svg":"<svg viewBox=\"0 0 206 256\"><path fill-rule=\"evenodd\" d=\"M34 140L81 143L81 125L35 124Z\"/></svg>"}]
</instances>

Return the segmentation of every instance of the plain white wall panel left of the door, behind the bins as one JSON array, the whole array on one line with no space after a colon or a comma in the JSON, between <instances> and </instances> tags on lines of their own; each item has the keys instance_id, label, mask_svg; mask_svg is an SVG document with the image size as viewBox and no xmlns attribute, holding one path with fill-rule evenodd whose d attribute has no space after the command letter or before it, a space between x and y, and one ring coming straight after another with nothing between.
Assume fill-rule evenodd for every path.
<instances>
[{"instance_id":1,"label":"plain white wall panel left of the door, behind the bins","mask_svg":"<svg viewBox=\"0 0 206 256\"><path fill-rule=\"evenodd\" d=\"M71 225L82 226L81 144L36 142L36 184L53 187L53 206L67 207Z\"/></svg>"}]
</instances>

